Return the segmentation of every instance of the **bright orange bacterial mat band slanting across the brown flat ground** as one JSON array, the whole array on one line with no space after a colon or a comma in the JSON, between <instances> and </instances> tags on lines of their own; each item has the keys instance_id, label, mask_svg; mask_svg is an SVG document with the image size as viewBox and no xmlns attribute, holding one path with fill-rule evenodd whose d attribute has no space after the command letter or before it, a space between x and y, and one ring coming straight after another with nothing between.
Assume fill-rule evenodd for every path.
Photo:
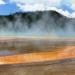
<instances>
[{"instance_id":1,"label":"bright orange bacterial mat band slanting across the brown flat ground","mask_svg":"<svg viewBox=\"0 0 75 75\"><path fill-rule=\"evenodd\" d=\"M65 49L54 52L39 52L39 53L2 56L0 57L0 65L46 62L66 58L75 58L75 46L67 46Z\"/></svg>"}]
</instances>

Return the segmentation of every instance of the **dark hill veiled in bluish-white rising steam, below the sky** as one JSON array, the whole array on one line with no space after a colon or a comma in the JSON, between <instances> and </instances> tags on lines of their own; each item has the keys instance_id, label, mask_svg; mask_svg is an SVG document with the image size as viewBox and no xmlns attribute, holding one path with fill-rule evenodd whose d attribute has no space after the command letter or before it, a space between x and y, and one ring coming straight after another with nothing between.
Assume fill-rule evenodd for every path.
<instances>
[{"instance_id":1,"label":"dark hill veiled in bluish-white rising steam, below the sky","mask_svg":"<svg viewBox=\"0 0 75 75\"><path fill-rule=\"evenodd\" d=\"M0 16L0 35L73 36L75 19L56 11L16 13Z\"/></svg>"}]
</instances>

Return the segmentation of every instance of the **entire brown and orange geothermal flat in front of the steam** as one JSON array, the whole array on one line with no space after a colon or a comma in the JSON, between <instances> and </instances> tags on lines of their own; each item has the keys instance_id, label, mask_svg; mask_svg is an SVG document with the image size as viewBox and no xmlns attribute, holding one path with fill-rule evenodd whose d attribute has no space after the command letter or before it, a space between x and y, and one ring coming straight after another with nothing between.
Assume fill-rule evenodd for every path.
<instances>
[{"instance_id":1,"label":"entire brown and orange geothermal flat in front of the steam","mask_svg":"<svg viewBox=\"0 0 75 75\"><path fill-rule=\"evenodd\" d=\"M75 41L1 38L0 74L75 75Z\"/></svg>"}]
</instances>

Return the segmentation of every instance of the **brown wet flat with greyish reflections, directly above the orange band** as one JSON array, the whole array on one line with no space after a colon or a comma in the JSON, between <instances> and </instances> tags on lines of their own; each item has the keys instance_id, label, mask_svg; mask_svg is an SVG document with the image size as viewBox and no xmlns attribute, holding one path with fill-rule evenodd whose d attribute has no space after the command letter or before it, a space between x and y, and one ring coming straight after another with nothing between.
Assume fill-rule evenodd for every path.
<instances>
[{"instance_id":1,"label":"brown wet flat with greyish reflections, directly above the orange band","mask_svg":"<svg viewBox=\"0 0 75 75\"><path fill-rule=\"evenodd\" d=\"M64 50L75 41L14 39L0 41L0 56L20 53Z\"/></svg>"}]
</instances>

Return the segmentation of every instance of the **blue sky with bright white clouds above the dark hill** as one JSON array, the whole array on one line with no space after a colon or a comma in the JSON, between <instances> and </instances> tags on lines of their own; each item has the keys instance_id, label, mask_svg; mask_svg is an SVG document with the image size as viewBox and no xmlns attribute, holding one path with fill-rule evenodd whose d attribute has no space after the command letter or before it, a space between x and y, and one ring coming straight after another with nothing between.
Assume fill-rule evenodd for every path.
<instances>
[{"instance_id":1,"label":"blue sky with bright white clouds above the dark hill","mask_svg":"<svg viewBox=\"0 0 75 75\"><path fill-rule=\"evenodd\" d=\"M0 0L0 15L44 10L56 10L75 18L75 0Z\"/></svg>"}]
</instances>

